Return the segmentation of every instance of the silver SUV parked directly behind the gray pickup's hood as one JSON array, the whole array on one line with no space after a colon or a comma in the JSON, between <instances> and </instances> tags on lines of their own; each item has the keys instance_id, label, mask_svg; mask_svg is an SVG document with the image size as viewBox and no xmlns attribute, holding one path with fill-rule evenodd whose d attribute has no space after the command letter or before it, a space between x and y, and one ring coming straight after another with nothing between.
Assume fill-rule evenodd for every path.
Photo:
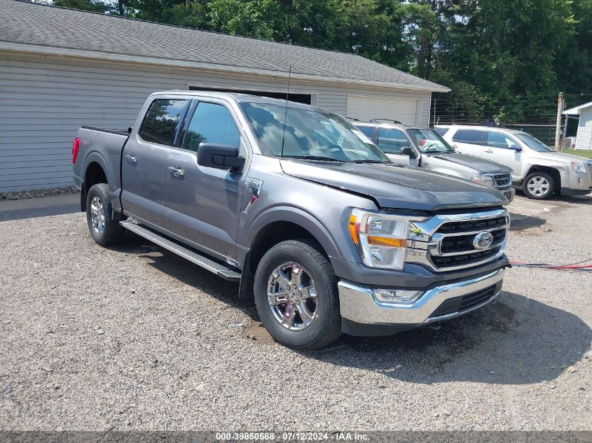
<instances>
[{"instance_id":1,"label":"silver SUV parked directly behind the gray pickup's hood","mask_svg":"<svg viewBox=\"0 0 592 443\"><path fill-rule=\"evenodd\" d=\"M511 169L502 164L457 153L434 129L399 122L354 122L390 160L429 171L467 178L497 188L511 202Z\"/></svg>"}]
</instances>

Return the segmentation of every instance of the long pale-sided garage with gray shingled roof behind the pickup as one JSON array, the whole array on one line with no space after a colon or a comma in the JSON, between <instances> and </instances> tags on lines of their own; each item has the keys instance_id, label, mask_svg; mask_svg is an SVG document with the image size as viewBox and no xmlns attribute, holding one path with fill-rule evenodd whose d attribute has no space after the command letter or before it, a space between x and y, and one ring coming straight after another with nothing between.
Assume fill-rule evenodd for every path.
<instances>
[{"instance_id":1,"label":"long pale-sided garage with gray shingled roof behind the pickup","mask_svg":"<svg viewBox=\"0 0 592 443\"><path fill-rule=\"evenodd\" d=\"M285 97L427 126L448 88L357 55L0 0L0 191L71 185L80 125L127 128L151 92Z\"/></svg>"}]
</instances>

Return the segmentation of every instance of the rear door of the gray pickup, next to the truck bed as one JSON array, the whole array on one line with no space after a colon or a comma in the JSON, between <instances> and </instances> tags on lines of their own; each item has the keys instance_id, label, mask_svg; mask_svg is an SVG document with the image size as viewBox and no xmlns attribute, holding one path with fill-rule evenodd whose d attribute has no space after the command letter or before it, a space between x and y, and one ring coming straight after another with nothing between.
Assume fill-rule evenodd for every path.
<instances>
[{"instance_id":1,"label":"rear door of the gray pickup, next to the truck bed","mask_svg":"<svg viewBox=\"0 0 592 443\"><path fill-rule=\"evenodd\" d=\"M163 227L167 157L188 107L186 99L154 99L132 132L121 159L121 202L126 215Z\"/></svg>"}]
</instances>

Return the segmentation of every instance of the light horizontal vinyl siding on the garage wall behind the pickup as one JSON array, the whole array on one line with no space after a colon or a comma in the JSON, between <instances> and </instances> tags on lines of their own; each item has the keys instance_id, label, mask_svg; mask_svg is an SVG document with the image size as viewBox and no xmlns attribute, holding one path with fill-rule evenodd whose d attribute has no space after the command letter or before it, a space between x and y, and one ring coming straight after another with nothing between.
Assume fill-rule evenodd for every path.
<instances>
[{"instance_id":1,"label":"light horizontal vinyl siding on the garage wall behind the pickup","mask_svg":"<svg viewBox=\"0 0 592 443\"><path fill-rule=\"evenodd\" d=\"M286 80L270 76L0 52L0 192L71 185L71 143L79 126L126 128L151 92L189 84L287 88ZM318 94L318 106L341 115L347 94L415 99L422 101L422 125L429 122L429 92L303 80L293 80L290 90Z\"/></svg>"}]
</instances>

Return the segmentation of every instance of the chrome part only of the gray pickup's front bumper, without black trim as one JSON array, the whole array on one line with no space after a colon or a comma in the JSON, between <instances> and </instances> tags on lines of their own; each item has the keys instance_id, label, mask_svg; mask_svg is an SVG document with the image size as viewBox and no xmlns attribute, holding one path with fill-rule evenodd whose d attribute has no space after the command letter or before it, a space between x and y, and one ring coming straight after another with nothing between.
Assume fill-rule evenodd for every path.
<instances>
[{"instance_id":1,"label":"chrome part only of the gray pickup's front bumper, without black trim","mask_svg":"<svg viewBox=\"0 0 592 443\"><path fill-rule=\"evenodd\" d=\"M411 304L381 302L377 300L372 288L358 286L348 281L338 283L341 316L348 321L366 325L418 325L447 320L467 314L488 304L499 294L497 290L493 297L470 309L432 317L432 314L446 300L462 295L476 293L479 290L495 286L504 278L504 269L480 276L476 279L460 281L445 286L439 286L425 291L425 293Z\"/></svg>"}]
</instances>

